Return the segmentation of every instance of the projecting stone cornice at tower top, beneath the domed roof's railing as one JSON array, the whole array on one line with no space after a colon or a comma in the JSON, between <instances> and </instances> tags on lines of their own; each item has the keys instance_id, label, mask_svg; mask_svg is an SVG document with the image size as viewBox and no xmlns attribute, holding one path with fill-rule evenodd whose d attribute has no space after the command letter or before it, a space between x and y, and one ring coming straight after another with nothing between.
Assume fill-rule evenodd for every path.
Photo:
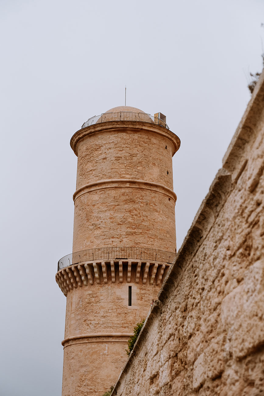
<instances>
[{"instance_id":1,"label":"projecting stone cornice at tower top, beneath the domed roof's railing","mask_svg":"<svg viewBox=\"0 0 264 396\"><path fill-rule=\"evenodd\" d=\"M79 129L70 139L70 147L78 156L78 148L76 146L81 139L84 139L84 137L99 132L123 132L124 129L130 130L131 133L133 133L133 131L135 130L141 130L146 132L158 133L159 135L166 137L174 145L173 155L180 148L180 139L177 135L175 135L175 133L159 125L140 121L108 121Z\"/></svg>"}]
</instances>

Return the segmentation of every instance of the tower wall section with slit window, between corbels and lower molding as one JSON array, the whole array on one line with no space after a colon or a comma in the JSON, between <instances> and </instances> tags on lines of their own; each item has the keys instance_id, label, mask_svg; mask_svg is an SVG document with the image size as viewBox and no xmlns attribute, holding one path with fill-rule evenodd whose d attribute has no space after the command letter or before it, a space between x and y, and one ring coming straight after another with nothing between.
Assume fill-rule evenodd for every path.
<instances>
[{"instance_id":1,"label":"tower wall section with slit window, between corbels and lower molding","mask_svg":"<svg viewBox=\"0 0 264 396\"><path fill-rule=\"evenodd\" d=\"M131 306L128 306L131 286ZM94 283L77 287L67 294L65 338L93 333L133 333L146 318L160 286L134 282Z\"/></svg>"}]
</instances>

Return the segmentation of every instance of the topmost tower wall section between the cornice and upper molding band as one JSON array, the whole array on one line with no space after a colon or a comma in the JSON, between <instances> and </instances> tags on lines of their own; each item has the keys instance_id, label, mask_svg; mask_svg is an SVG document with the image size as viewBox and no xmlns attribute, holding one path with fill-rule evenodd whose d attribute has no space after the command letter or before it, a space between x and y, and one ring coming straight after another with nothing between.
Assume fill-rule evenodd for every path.
<instances>
[{"instance_id":1,"label":"topmost tower wall section between the cornice and upper molding band","mask_svg":"<svg viewBox=\"0 0 264 396\"><path fill-rule=\"evenodd\" d=\"M127 175L173 189L174 145L157 133L132 128L104 130L86 136L77 148L76 189L98 180L125 179Z\"/></svg>"}]
</instances>

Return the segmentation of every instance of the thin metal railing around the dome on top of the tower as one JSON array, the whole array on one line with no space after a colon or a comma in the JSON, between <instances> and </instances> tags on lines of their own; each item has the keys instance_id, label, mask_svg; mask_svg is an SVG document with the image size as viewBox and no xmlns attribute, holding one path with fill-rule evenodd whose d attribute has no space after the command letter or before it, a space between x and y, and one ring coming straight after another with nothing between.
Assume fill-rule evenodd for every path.
<instances>
[{"instance_id":1,"label":"thin metal railing around the dome on top of the tower","mask_svg":"<svg viewBox=\"0 0 264 396\"><path fill-rule=\"evenodd\" d=\"M82 128L86 128L87 126L91 126L94 124L100 124L101 122L108 121L141 121L141 122L149 122L150 124L160 125L163 128L169 129L167 124L161 120L161 118L151 116L146 113L134 113L131 111L119 111L112 113L102 113L100 116L93 116L89 118L88 121L82 124ZM81 128L81 129L82 129Z\"/></svg>"}]
</instances>

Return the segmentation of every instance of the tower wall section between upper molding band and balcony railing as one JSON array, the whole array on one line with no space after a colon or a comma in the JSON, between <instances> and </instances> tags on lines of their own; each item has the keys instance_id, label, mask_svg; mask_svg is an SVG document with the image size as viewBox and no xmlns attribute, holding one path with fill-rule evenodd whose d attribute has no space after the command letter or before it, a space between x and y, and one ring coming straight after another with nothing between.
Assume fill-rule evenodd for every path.
<instances>
[{"instance_id":1,"label":"tower wall section between upper molding band and balcony railing","mask_svg":"<svg viewBox=\"0 0 264 396\"><path fill-rule=\"evenodd\" d=\"M173 196L139 183L109 184L76 198L73 251L137 246L175 252Z\"/></svg>"}]
</instances>

